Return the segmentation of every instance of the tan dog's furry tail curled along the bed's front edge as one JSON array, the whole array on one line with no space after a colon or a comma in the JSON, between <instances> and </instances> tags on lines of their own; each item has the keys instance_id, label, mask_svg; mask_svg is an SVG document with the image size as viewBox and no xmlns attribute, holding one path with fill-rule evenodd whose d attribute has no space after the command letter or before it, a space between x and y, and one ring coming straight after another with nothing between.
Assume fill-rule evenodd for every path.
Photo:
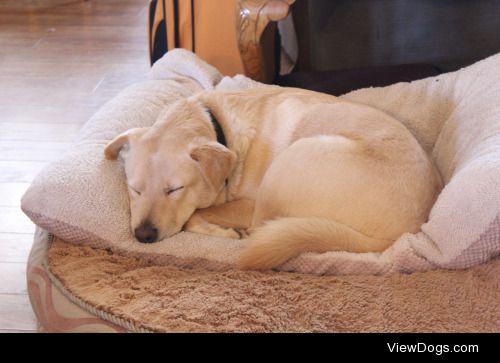
<instances>
[{"instance_id":1,"label":"tan dog's furry tail curled along the bed's front edge","mask_svg":"<svg viewBox=\"0 0 500 363\"><path fill-rule=\"evenodd\" d=\"M393 242L368 237L330 219L287 217L252 232L238 267L267 270L303 252L381 252Z\"/></svg>"}]
</instances>

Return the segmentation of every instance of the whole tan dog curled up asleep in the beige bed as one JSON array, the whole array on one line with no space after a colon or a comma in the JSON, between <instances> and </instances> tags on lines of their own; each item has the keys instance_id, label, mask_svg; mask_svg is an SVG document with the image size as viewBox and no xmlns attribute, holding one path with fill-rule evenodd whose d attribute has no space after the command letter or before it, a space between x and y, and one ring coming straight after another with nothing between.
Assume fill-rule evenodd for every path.
<instances>
[{"instance_id":1,"label":"whole tan dog curled up asleep in the beige bed","mask_svg":"<svg viewBox=\"0 0 500 363\"><path fill-rule=\"evenodd\" d=\"M249 232L240 267L251 269L308 251L383 251L419 230L442 187L394 118L291 88L200 93L105 154L124 161L138 240Z\"/></svg>"}]
</instances>

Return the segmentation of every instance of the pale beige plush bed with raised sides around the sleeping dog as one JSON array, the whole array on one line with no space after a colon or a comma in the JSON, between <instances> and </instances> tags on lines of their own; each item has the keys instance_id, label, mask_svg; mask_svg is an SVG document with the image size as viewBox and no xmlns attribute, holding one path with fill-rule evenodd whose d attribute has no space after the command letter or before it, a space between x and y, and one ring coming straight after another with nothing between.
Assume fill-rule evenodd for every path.
<instances>
[{"instance_id":1,"label":"pale beige plush bed with raised sides around the sleeping dog","mask_svg":"<svg viewBox=\"0 0 500 363\"><path fill-rule=\"evenodd\" d=\"M344 96L376 106L407 125L435 158L447 185L422 232L404 234L385 252L308 253L280 269L383 274L466 268L497 255L499 69L497 55L459 72ZM125 90L91 119L78 143L36 178L22 208L36 224L69 242L155 263L226 270L244 241L180 233L152 245L138 243L130 232L122 168L105 161L102 153L109 139L128 128L151 125L164 107L181 97L203 88L246 88L256 83L242 76L221 80L217 70L183 50L167 53L151 77L156 80Z\"/></svg>"}]
</instances>

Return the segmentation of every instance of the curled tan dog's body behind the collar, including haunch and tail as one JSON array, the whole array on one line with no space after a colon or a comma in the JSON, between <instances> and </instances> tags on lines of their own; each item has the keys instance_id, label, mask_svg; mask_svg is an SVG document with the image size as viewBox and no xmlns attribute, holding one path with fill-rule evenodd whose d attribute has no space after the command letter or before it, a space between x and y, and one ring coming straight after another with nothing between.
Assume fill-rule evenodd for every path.
<instances>
[{"instance_id":1,"label":"curled tan dog's body behind the collar, including haunch and tail","mask_svg":"<svg viewBox=\"0 0 500 363\"><path fill-rule=\"evenodd\" d=\"M241 267L271 268L307 251L382 251L427 219L439 173L391 116L297 89L209 99L229 130L249 130L233 189L256 200Z\"/></svg>"}]
</instances>

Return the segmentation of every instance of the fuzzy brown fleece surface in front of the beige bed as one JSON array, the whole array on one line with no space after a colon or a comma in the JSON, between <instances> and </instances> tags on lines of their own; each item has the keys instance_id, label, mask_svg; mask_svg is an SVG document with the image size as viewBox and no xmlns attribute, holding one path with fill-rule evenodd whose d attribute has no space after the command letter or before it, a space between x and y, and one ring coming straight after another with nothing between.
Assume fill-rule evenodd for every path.
<instances>
[{"instance_id":1,"label":"fuzzy brown fleece surface in front of the beige bed","mask_svg":"<svg viewBox=\"0 0 500 363\"><path fill-rule=\"evenodd\" d=\"M411 275L207 272L56 238L48 261L78 298L155 331L500 331L500 258Z\"/></svg>"}]
</instances>

